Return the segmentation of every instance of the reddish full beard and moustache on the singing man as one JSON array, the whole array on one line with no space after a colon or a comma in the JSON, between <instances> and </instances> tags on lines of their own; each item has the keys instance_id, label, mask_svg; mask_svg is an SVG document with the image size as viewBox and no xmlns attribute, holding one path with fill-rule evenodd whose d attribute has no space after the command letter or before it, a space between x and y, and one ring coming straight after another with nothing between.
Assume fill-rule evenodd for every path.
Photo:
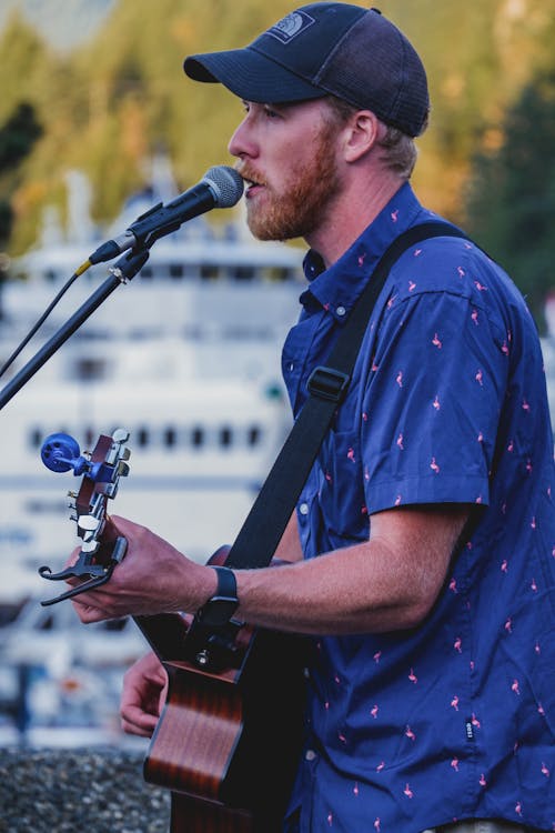
<instances>
[{"instance_id":1,"label":"reddish full beard and moustache on the singing man","mask_svg":"<svg viewBox=\"0 0 555 833\"><path fill-rule=\"evenodd\" d=\"M324 124L317 145L306 164L290 169L289 185L276 191L249 162L239 162L236 169L246 180L264 185L264 202L246 200L246 222L259 240L292 240L306 238L322 222L325 212L339 191L337 164L329 142L332 127Z\"/></svg>"}]
</instances>

